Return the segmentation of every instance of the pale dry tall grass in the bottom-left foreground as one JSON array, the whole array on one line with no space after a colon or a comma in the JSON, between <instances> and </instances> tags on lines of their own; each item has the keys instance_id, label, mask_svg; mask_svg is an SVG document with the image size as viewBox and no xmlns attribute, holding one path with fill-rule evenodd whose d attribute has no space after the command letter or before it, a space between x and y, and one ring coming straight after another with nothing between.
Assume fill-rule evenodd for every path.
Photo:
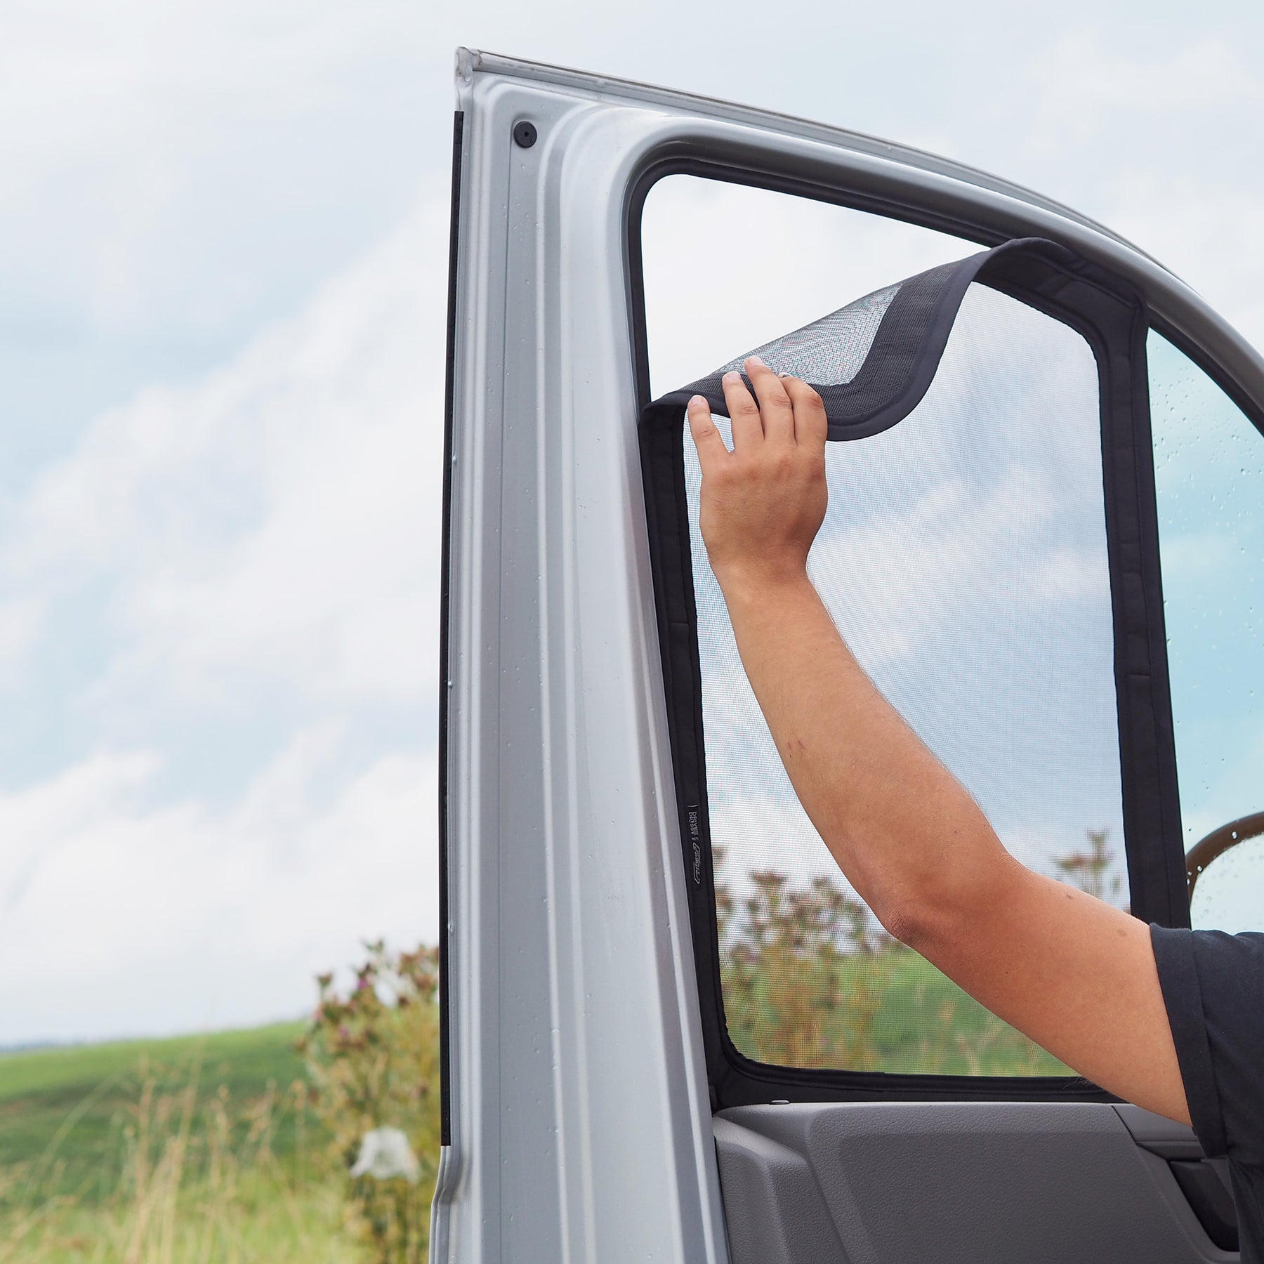
<instances>
[{"instance_id":1,"label":"pale dry tall grass in the bottom-left foreground","mask_svg":"<svg viewBox=\"0 0 1264 1264\"><path fill-rule=\"evenodd\" d=\"M158 1068L140 1072L91 1182L62 1179L76 1112L37 1159L0 1169L3 1264L358 1259L340 1230L339 1183L303 1135L306 1083L234 1102L224 1086L202 1091L200 1063L176 1085ZM286 1120L297 1136L282 1159L274 1141Z\"/></svg>"}]
</instances>

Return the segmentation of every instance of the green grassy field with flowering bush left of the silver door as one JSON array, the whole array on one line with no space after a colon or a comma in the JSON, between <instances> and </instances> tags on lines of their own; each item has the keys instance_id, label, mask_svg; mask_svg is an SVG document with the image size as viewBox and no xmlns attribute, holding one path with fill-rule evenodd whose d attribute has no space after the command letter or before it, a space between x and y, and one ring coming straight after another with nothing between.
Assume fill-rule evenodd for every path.
<instances>
[{"instance_id":1,"label":"green grassy field with flowering bush left of the silver door","mask_svg":"<svg viewBox=\"0 0 1264 1264\"><path fill-rule=\"evenodd\" d=\"M321 976L301 1034L152 1042L162 1060L137 1044L0 1058L0 1264L420 1264L437 958L368 948L348 995ZM406 1136L408 1170L353 1174L383 1127Z\"/></svg>"}]
</instances>

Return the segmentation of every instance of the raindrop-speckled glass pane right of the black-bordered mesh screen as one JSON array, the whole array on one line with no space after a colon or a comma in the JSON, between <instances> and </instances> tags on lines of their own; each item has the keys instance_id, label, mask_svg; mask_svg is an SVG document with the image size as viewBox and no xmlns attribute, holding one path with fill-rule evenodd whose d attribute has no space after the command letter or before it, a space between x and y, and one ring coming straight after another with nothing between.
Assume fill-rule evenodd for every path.
<instances>
[{"instance_id":1,"label":"raindrop-speckled glass pane right of the black-bordered mesh screen","mask_svg":"<svg viewBox=\"0 0 1264 1264\"><path fill-rule=\"evenodd\" d=\"M1264 436L1164 337L1146 353L1186 851L1243 823L1191 918L1264 930Z\"/></svg>"}]
</instances>

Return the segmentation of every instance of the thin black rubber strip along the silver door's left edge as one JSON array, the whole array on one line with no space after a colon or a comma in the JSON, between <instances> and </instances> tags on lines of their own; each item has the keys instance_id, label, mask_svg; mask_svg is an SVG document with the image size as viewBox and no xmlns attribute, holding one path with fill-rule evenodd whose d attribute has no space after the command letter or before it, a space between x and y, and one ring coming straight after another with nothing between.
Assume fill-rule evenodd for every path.
<instances>
[{"instance_id":1,"label":"thin black rubber strip along the silver door's left edge","mask_svg":"<svg viewBox=\"0 0 1264 1264\"><path fill-rule=\"evenodd\" d=\"M447 353L444 365L444 526L439 571L439 1141L453 1144L451 1028L447 973L447 604L453 517L453 399L456 377L456 252L460 246L461 138L465 115L453 119L453 207L447 243Z\"/></svg>"}]
</instances>

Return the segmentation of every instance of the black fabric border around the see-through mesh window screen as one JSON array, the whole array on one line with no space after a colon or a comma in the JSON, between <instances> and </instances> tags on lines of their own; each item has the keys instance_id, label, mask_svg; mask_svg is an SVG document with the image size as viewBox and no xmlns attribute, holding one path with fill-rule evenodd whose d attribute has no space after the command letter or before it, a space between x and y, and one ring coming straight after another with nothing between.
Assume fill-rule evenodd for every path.
<instances>
[{"instance_id":1,"label":"black fabric border around the see-through mesh window screen","mask_svg":"<svg viewBox=\"0 0 1264 1264\"><path fill-rule=\"evenodd\" d=\"M633 330L643 349L638 222L629 224ZM1133 911L1143 920L1188 925L1176 747L1168 694L1158 514L1150 446L1148 330L1144 298L1064 246L1023 238L932 269L901 286L884 315L861 373L827 399L830 440L878 434L896 425L929 388L971 282L1007 293L1069 325L1091 345L1098 367L1103 495L1115 624L1122 814ZM640 306L638 306L640 305ZM887 327L890 326L890 327ZM881 340L881 341L880 341ZM913 353L910 354L910 346ZM870 362L891 355L896 368L866 377ZM646 398L643 356L638 384ZM884 402L880 389L890 396ZM715 1109L786 1098L857 1100L1114 1100L1078 1078L906 1076L774 1067L744 1057L724 1021L719 944L712 882L700 662L693 561L684 487L684 407L704 394L724 413L718 378L671 392L641 412L641 451L664 680L671 732L676 801L707 1071ZM825 391L822 391L825 398ZM686 820L686 811L693 819ZM693 834L700 841L702 882L693 881Z\"/></svg>"}]
</instances>

